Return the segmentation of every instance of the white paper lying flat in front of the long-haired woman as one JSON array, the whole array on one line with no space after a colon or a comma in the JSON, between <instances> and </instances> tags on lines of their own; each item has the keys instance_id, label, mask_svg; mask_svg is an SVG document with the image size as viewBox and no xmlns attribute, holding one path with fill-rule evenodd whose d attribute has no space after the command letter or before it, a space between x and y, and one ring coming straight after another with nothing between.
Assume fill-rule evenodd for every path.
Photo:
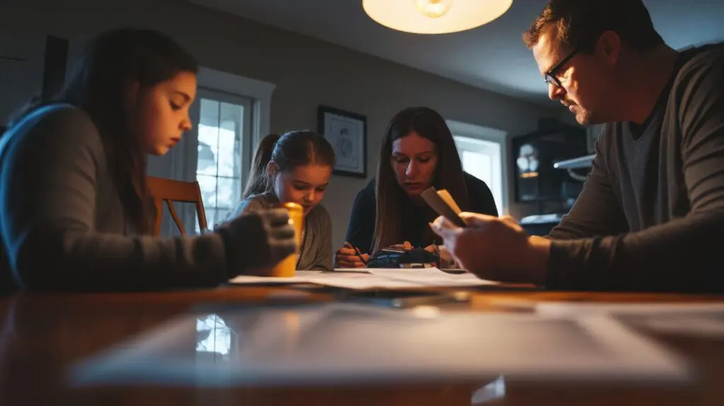
<instances>
[{"instance_id":1,"label":"white paper lying flat in front of the long-haired woman","mask_svg":"<svg viewBox=\"0 0 724 406\"><path fill-rule=\"evenodd\" d=\"M447 274L438 268L358 268L332 272L297 271L291 278L236 276L231 284L311 283L348 289L400 289L416 287L475 287L497 284L473 274Z\"/></svg>"}]
</instances>

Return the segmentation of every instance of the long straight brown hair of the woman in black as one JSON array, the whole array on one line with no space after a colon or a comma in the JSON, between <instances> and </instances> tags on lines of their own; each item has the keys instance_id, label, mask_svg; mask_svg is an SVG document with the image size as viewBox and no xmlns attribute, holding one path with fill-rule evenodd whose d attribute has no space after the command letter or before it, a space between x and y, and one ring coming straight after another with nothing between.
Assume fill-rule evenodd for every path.
<instances>
[{"instance_id":1,"label":"long straight brown hair of the woman in black","mask_svg":"<svg viewBox=\"0 0 724 406\"><path fill-rule=\"evenodd\" d=\"M402 242L405 206L411 204L405 190L397 183L392 171L392 143L416 132L435 144L437 167L432 184L447 189L462 210L468 209L468 191L458 148L445 119L428 107L408 107L392 118L382 139L376 177L377 211L372 251ZM432 240L432 230L428 229Z\"/></svg>"}]
</instances>

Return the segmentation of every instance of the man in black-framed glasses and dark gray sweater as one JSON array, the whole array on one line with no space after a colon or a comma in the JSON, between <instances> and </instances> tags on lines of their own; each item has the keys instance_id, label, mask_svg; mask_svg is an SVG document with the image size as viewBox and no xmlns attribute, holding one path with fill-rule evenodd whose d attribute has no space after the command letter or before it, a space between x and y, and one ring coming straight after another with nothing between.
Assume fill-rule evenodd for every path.
<instances>
[{"instance_id":1,"label":"man in black-framed glasses and dark gray sweater","mask_svg":"<svg viewBox=\"0 0 724 406\"><path fill-rule=\"evenodd\" d=\"M605 124L546 238L508 217L437 219L484 279L548 289L724 291L724 45L678 52L641 0L552 0L523 34L553 100Z\"/></svg>"}]
</instances>

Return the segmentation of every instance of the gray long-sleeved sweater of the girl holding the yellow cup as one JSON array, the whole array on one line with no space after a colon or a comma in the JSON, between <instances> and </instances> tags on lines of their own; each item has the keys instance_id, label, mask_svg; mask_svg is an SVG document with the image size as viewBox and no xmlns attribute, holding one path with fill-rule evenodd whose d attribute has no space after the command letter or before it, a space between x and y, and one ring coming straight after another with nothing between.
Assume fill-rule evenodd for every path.
<instances>
[{"instance_id":1,"label":"gray long-sleeved sweater of the girl holding the yellow cup","mask_svg":"<svg viewBox=\"0 0 724 406\"><path fill-rule=\"evenodd\" d=\"M38 109L0 138L2 291L215 286L268 250L264 238L240 239L265 235L257 220L201 237L130 234L101 135L72 106Z\"/></svg>"}]
</instances>

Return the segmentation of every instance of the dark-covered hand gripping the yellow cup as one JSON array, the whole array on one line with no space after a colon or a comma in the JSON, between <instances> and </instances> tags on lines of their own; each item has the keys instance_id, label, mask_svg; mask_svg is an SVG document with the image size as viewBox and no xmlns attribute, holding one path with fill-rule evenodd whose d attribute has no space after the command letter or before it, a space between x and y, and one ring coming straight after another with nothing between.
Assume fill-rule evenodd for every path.
<instances>
[{"instance_id":1,"label":"dark-covered hand gripping the yellow cup","mask_svg":"<svg viewBox=\"0 0 724 406\"><path fill-rule=\"evenodd\" d=\"M220 234L227 234L227 255L230 261L230 277L253 271L268 274L274 265L297 252L294 227L289 223L285 208L270 208L237 217L219 227ZM228 242L232 242L228 244Z\"/></svg>"}]
</instances>

